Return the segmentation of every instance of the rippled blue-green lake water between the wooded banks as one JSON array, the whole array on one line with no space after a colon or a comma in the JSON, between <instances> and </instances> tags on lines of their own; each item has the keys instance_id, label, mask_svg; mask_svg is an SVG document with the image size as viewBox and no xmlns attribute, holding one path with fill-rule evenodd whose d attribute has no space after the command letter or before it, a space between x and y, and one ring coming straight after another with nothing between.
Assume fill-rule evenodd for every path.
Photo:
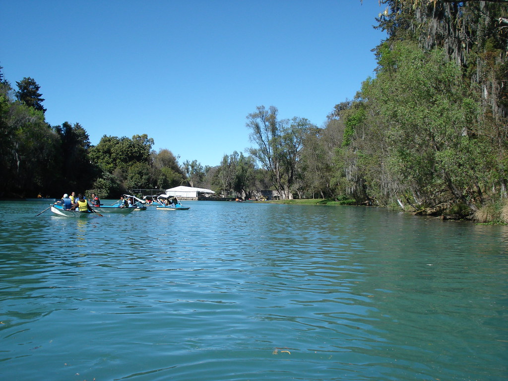
<instances>
[{"instance_id":1,"label":"rippled blue-green lake water between the wooded banks","mask_svg":"<svg viewBox=\"0 0 508 381\"><path fill-rule=\"evenodd\" d=\"M0 202L0 379L508 378L506 227L184 204Z\"/></svg>"}]
</instances>

